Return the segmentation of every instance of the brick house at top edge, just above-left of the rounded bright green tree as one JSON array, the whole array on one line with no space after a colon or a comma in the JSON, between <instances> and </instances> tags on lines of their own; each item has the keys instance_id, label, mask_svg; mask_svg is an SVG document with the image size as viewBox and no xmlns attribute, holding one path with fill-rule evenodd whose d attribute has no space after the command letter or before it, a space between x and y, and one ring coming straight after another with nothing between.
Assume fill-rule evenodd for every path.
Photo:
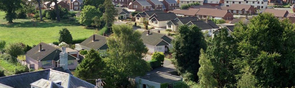
<instances>
[{"instance_id":1,"label":"brick house at top edge, just above-left of the rounded bright green tree","mask_svg":"<svg viewBox=\"0 0 295 88\"><path fill-rule=\"evenodd\" d=\"M79 11L83 6L83 0L68 0L67 4L70 5L71 10Z\"/></svg>"}]
</instances>

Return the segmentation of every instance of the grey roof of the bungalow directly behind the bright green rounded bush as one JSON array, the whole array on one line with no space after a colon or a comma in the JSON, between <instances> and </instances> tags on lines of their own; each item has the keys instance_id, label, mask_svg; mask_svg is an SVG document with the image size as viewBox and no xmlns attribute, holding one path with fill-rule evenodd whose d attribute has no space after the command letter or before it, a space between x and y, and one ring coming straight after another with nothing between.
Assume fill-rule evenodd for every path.
<instances>
[{"instance_id":1,"label":"grey roof of the bungalow directly behind the bright green rounded bush","mask_svg":"<svg viewBox=\"0 0 295 88\"><path fill-rule=\"evenodd\" d=\"M165 34L153 32L153 31L150 31L149 35L147 35L147 34L148 34L148 31L143 31L142 32L142 35L141 35L142 42L144 44L152 45L152 46L156 46L160 42L165 41L163 39L163 36L167 36ZM165 42L169 43L169 41L171 41L171 40L172 39L167 40Z\"/></svg>"}]
</instances>

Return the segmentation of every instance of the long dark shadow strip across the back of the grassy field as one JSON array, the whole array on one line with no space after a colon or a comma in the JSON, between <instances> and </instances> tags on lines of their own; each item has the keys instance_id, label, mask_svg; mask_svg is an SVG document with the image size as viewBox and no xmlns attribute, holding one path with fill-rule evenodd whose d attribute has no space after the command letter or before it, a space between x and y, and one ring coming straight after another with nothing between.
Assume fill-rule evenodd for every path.
<instances>
[{"instance_id":1,"label":"long dark shadow strip across the back of the grassy field","mask_svg":"<svg viewBox=\"0 0 295 88\"><path fill-rule=\"evenodd\" d=\"M40 21L25 21L25 22L15 22L11 24L0 24L0 27L7 28L48 28L55 26L77 26L65 23L55 23L55 22L40 22Z\"/></svg>"}]
</instances>

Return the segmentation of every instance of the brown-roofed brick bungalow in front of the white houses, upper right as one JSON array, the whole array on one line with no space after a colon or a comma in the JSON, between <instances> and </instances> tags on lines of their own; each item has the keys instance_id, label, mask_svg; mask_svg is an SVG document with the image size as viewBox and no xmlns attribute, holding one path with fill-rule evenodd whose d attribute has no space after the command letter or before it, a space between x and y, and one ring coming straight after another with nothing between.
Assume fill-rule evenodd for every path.
<instances>
[{"instance_id":1,"label":"brown-roofed brick bungalow in front of the white houses, upper right","mask_svg":"<svg viewBox=\"0 0 295 88\"><path fill-rule=\"evenodd\" d=\"M220 6L222 10L227 10L232 14L256 14L256 9L251 5L232 4L231 6Z\"/></svg>"}]
</instances>

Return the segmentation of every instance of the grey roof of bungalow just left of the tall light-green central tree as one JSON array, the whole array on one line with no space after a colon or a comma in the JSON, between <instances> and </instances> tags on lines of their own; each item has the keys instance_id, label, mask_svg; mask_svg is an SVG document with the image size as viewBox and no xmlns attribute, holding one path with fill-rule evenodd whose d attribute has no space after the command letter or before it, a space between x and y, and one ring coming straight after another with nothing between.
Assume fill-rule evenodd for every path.
<instances>
[{"instance_id":1,"label":"grey roof of bungalow just left of the tall light-green central tree","mask_svg":"<svg viewBox=\"0 0 295 88\"><path fill-rule=\"evenodd\" d=\"M86 40L84 40L82 43L80 43L80 45L83 45L87 48L90 49L98 49L101 46L103 46L104 44L106 44L106 37L102 36L102 35L95 35L95 40L93 41L93 35L90 36L89 38L87 38ZM92 42L93 41L93 42Z\"/></svg>"}]
</instances>

